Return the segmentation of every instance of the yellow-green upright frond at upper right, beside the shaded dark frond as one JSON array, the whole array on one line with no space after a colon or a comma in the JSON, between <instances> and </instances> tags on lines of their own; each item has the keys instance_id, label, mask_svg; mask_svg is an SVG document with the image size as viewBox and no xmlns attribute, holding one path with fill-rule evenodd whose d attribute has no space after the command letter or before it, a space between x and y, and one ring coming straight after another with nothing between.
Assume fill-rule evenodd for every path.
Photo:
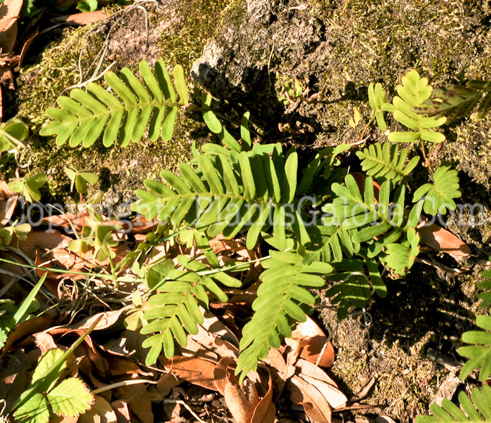
<instances>
[{"instance_id":1,"label":"yellow-green upright frond at upper right, beside the shaded dark frond","mask_svg":"<svg viewBox=\"0 0 491 423\"><path fill-rule=\"evenodd\" d=\"M391 132L388 140L393 142L409 143L417 140L441 143L445 135L431 131L445 123L445 117L426 117L416 112L431 96L433 89L428 85L428 79L419 77L415 70L407 72L402 77L402 85L397 86L399 96L392 100L395 110L394 119L406 126L410 131Z\"/></svg>"}]
</instances>

